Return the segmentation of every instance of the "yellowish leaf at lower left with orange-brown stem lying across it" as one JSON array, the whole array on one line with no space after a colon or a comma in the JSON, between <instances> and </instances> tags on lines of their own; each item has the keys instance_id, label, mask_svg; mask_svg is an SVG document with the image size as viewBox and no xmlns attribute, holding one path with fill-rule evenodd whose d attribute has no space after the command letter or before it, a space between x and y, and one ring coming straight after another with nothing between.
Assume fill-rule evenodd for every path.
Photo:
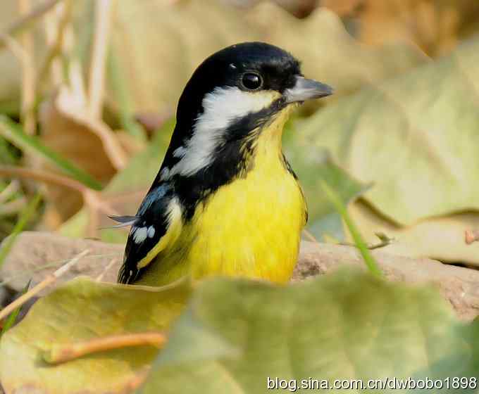
<instances>
[{"instance_id":1,"label":"yellowish leaf at lower left with orange-brown stem lying across it","mask_svg":"<svg viewBox=\"0 0 479 394\"><path fill-rule=\"evenodd\" d=\"M44 355L58 345L110 335L165 331L190 294L185 282L165 288L105 284L78 278L35 303L0 343L6 393L130 393L158 349L139 346L92 353L52 366ZM20 367L21 366L21 367Z\"/></svg>"}]
</instances>

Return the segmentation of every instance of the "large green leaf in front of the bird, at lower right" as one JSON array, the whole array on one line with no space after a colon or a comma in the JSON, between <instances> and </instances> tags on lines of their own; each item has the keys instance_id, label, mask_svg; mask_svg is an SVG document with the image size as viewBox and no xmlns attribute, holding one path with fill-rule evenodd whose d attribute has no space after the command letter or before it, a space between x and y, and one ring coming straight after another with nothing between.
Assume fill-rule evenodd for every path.
<instances>
[{"instance_id":1,"label":"large green leaf in front of the bird, at lower right","mask_svg":"<svg viewBox=\"0 0 479 394\"><path fill-rule=\"evenodd\" d=\"M344 269L286 287L213 279L195 290L138 393L267 393L268 377L475 376L477 340L429 287Z\"/></svg>"}]
</instances>

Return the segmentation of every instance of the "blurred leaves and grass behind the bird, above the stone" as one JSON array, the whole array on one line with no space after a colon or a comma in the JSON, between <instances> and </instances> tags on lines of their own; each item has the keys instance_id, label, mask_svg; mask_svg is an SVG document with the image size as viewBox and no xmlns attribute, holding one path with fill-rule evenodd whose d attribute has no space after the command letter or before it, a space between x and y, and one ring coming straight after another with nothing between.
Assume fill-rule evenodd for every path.
<instances>
[{"instance_id":1,"label":"blurred leaves and grass behind the bird, above the stone","mask_svg":"<svg viewBox=\"0 0 479 394\"><path fill-rule=\"evenodd\" d=\"M26 228L123 242L106 215L135 213L194 68L261 40L336 89L285 133L306 236L349 238L327 179L371 243L479 265L477 32L475 0L4 0L0 239L39 193Z\"/></svg>"}]
</instances>

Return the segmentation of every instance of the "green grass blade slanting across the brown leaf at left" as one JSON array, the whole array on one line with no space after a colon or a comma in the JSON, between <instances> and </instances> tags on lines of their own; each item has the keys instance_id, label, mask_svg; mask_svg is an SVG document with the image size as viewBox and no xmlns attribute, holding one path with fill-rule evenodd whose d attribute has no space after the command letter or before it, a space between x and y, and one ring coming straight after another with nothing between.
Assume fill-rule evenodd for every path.
<instances>
[{"instance_id":1,"label":"green grass blade slanting across the brown leaf at left","mask_svg":"<svg viewBox=\"0 0 479 394\"><path fill-rule=\"evenodd\" d=\"M52 151L47 146L44 146L36 136L30 136L23 132L22 127L18 123L13 122L5 115L0 115L0 135L3 136L12 144L28 150L37 155L41 155L42 158L48 160L50 163L56 165L60 170L68 174L68 176L76 179L90 189L101 190L103 186L94 179L90 174L76 167L70 161L63 158L61 155Z\"/></svg>"}]
</instances>

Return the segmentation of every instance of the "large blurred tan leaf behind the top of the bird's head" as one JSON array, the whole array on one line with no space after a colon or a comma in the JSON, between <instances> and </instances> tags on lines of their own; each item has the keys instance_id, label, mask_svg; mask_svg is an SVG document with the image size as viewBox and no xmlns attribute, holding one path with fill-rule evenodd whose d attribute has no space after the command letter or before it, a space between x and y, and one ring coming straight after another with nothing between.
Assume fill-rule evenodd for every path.
<instances>
[{"instance_id":1,"label":"large blurred tan leaf behind the top of the bird's head","mask_svg":"<svg viewBox=\"0 0 479 394\"><path fill-rule=\"evenodd\" d=\"M204 22L211 20L215 23ZM113 54L135 113L174 108L204 58L224 46L254 40L291 51L301 60L304 74L331 84L336 97L427 61L409 44L359 45L326 8L299 20L269 2L242 10L214 0L173 5L156 0L142 2L141 7L120 1L112 32ZM118 108L113 93L109 92L110 103Z\"/></svg>"}]
</instances>

